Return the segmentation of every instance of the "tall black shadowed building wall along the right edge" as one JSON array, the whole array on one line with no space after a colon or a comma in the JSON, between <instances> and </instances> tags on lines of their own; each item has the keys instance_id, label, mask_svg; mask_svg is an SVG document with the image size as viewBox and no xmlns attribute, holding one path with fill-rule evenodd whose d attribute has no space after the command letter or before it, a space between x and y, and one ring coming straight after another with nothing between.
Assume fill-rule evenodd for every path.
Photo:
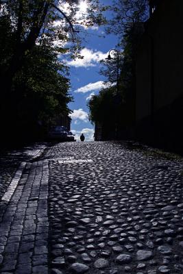
<instances>
[{"instance_id":1,"label":"tall black shadowed building wall along the right edge","mask_svg":"<svg viewBox=\"0 0 183 274\"><path fill-rule=\"evenodd\" d=\"M183 153L183 1L157 3L136 53L136 137Z\"/></svg>"}]
</instances>

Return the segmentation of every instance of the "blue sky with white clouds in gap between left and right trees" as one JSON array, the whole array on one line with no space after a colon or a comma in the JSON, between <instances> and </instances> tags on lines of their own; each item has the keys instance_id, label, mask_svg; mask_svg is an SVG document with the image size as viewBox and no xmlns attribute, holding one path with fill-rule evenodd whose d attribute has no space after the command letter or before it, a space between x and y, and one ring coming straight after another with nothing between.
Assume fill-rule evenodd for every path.
<instances>
[{"instance_id":1,"label":"blue sky with white clouds in gap between left and right trees","mask_svg":"<svg viewBox=\"0 0 183 274\"><path fill-rule=\"evenodd\" d=\"M106 5L111 3L110 0L100 2ZM81 51L84 59L71 60L67 63L70 67L70 92L74 99L74 102L69 104L69 108L73 110L71 130L75 137L78 138L83 132L86 140L93 140L94 129L88 121L86 103L88 98L97 94L103 86L105 78L99 74L99 61L107 58L108 51L117 45L118 40L117 36L106 36L103 27L90 27L87 29L87 34L86 41L82 43L84 49Z\"/></svg>"}]
</instances>

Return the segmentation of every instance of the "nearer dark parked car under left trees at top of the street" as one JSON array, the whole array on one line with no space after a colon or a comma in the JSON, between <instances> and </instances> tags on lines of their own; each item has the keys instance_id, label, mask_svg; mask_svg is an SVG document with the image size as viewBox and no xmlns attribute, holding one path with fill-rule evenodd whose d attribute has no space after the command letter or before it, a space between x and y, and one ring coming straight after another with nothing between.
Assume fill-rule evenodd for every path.
<instances>
[{"instance_id":1,"label":"nearer dark parked car under left trees at top of the street","mask_svg":"<svg viewBox=\"0 0 183 274\"><path fill-rule=\"evenodd\" d=\"M66 127L63 125L56 125L51 127L48 133L48 138L50 140L60 140L64 141L67 139L67 131Z\"/></svg>"}]
</instances>

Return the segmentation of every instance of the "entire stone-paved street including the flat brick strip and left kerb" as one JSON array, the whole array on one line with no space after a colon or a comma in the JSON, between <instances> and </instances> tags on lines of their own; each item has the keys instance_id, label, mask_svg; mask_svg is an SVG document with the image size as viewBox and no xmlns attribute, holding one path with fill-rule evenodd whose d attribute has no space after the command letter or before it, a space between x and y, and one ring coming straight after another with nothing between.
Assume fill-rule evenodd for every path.
<instances>
[{"instance_id":1,"label":"entire stone-paved street including the flat brick strip and left kerb","mask_svg":"<svg viewBox=\"0 0 183 274\"><path fill-rule=\"evenodd\" d=\"M1 274L183 273L181 159L127 142L41 149L0 193Z\"/></svg>"}]
</instances>

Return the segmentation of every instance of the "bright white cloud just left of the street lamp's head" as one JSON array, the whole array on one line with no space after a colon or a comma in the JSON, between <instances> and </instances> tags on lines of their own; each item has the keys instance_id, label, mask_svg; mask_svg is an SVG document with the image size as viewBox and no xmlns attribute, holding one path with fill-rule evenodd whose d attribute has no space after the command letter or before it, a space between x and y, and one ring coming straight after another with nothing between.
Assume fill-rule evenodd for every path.
<instances>
[{"instance_id":1,"label":"bright white cloud just left of the street lamp's head","mask_svg":"<svg viewBox=\"0 0 183 274\"><path fill-rule=\"evenodd\" d=\"M75 60L67 61L66 64L69 66L75 66L76 68L84 66L96 66L100 60L103 60L107 57L107 53L101 51L93 51L92 49L82 49L80 55L83 56L83 59L76 58Z\"/></svg>"}]
</instances>

